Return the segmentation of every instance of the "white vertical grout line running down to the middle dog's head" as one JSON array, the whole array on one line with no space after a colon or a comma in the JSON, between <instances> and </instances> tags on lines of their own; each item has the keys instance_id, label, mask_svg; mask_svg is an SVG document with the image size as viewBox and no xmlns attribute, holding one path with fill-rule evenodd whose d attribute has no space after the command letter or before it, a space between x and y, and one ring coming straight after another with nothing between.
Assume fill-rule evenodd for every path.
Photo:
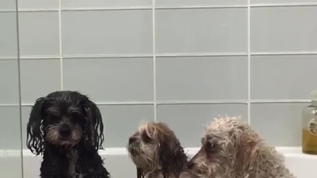
<instances>
[{"instance_id":1,"label":"white vertical grout line running down to the middle dog's head","mask_svg":"<svg viewBox=\"0 0 317 178\"><path fill-rule=\"evenodd\" d=\"M157 121L157 70L156 70L156 36L155 36L155 0L152 0L152 40L153 40L153 96L154 96L154 121Z\"/></svg>"}]
</instances>

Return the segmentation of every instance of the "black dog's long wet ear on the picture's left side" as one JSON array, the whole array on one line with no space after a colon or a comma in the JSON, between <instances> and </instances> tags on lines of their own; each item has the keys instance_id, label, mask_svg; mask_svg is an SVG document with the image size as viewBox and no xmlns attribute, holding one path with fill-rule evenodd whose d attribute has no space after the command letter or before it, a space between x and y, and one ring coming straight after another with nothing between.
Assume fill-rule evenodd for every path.
<instances>
[{"instance_id":1,"label":"black dog's long wet ear on the picture's left side","mask_svg":"<svg viewBox=\"0 0 317 178\"><path fill-rule=\"evenodd\" d=\"M44 151L44 132L42 121L42 106L44 97L36 100L32 107L29 122L27 124L26 145L32 153L39 155Z\"/></svg>"}]
</instances>

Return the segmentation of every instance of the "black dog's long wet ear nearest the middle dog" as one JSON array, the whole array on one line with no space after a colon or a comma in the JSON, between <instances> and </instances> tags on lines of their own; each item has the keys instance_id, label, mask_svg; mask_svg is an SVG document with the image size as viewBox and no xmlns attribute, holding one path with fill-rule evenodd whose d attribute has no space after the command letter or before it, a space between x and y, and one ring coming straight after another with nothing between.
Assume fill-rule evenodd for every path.
<instances>
[{"instance_id":1,"label":"black dog's long wet ear nearest the middle dog","mask_svg":"<svg viewBox=\"0 0 317 178\"><path fill-rule=\"evenodd\" d=\"M90 142L97 150L103 149L104 142L104 124L100 110L97 105L85 96L86 112L86 140Z\"/></svg>"}]
</instances>

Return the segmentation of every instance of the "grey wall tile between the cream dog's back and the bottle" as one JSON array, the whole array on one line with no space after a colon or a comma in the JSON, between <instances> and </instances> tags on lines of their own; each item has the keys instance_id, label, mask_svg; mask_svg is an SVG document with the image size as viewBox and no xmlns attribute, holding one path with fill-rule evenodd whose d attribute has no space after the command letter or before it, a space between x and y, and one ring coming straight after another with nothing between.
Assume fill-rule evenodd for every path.
<instances>
[{"instance_id":1,"label":"grey wall tile between the cream dog's back and the bottle","mask_svg":"<svg viewBox=\"0 0 317 178\"><path fill-rule=\"evenodd\" d=\"M301 146L302 109L307 104L254 103L251 126L275 146Z\"/></svg>"}]
</instances>

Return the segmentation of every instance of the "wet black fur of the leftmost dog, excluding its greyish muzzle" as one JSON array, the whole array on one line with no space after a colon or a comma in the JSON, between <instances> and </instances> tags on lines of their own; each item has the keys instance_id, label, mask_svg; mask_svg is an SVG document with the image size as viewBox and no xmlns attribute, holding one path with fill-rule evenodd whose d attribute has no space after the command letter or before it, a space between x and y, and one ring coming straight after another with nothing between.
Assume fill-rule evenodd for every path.
<instances>
[{"instance_id":1,"label":"wet black fur of the leftmost dog, excluding its greyish muzzle","mask_svg":"<svg viewBox=\"0 0 317 178\"><path fill-rule=\"evenodd\" d=\"M78 111L85 118L80 123L83 136L76 145L54 145L45 139L48 125L46 113L54 112L56 109L52 109L53 107L58 107L60 115L65 115L67 110L71 109ZM43 154L42 178L71 178L68 174L71 153L75 153L77 158L74 163L78 174L76 178L109 178L110 175L98 154L98 150L103 149L103 130L101 113L87 96L76 91L55 91L37 99L32 107L27 125L27 147L36 155Z\"/></svg>"}]
</instances>

